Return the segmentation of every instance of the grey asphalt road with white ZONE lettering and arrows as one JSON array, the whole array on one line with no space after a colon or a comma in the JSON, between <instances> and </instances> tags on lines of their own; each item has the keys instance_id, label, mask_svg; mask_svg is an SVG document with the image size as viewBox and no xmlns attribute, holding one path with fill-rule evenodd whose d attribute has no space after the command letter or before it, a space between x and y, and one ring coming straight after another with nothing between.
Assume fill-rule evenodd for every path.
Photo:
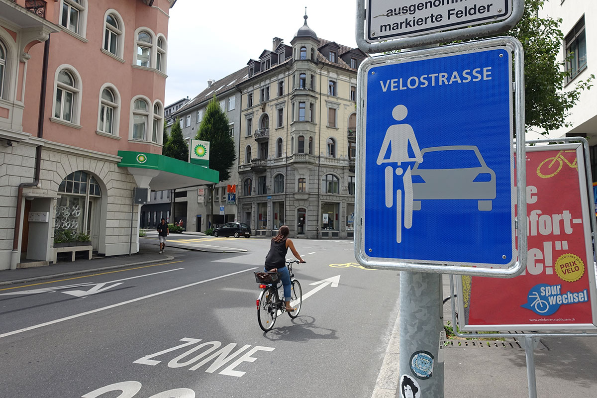
<instances>
[{"instance_id":1,"label":"grey asphalt road with white ZONE lettering and arrows","mask_svg":"<svg viewBox=\"0 0 597 398\"><path fill-rule=\"evenodd\" d=\"M296 277L315 292L264 333L253 271L269 240L177 238L242 251L168 246L167 263L0 290L0 396L371 397L397 272L362 269L352 242L295 240Z\"/></svg>"}]
</instances>

